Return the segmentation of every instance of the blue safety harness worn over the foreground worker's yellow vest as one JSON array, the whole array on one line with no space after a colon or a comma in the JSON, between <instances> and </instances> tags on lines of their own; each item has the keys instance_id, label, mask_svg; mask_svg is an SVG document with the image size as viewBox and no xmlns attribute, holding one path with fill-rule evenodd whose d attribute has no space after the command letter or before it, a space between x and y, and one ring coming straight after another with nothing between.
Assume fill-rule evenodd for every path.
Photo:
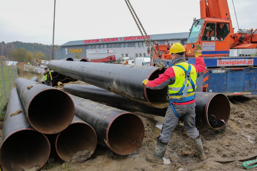
<instances>
[{"instance_id":1,"label":"blue safety harness worn over the foreground worker's yellow vest","mask_svg":"<svg viewBox=\"0 0 257 171\"><path fill-rule=\"evenodd\" d=\"M194 93L195 84L192 81L192 79L190 78L191 65L188 65L188 71L184 67L182 67L181 65L176 65L176 66L178 66L178 67L180 67L181 69L184 70L185 81L184 81L184 84L183 84L183 86L181 87L181 89L179 90L178 93L172 94L172 96L170 96L169 90L168 90L168 95L169 96L167 96L167 99L169 100L169 105L170 105L172 111L174 112L174 114L177 116L177 118L180 118L180 116L177 114L176 110L173 107L173 103L174 102L182 103L182 102L188 102L188 101L193 100L195 98L195 93ZM192 89L193 89L192 92L188 92L190 84L192 85ZM183 90L184 90L184 92L183 92Z\"/></svg>"}]
</instances>

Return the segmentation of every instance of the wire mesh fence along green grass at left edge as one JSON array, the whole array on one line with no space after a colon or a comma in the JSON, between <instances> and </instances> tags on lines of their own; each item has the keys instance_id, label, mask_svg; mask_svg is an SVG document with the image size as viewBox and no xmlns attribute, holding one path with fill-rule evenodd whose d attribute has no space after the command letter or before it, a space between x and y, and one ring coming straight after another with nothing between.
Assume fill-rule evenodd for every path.
<instances>
[{"instance_id":1,"label":"wire mesh fence along green grass at left edge","mask_svg":"<svg viewBox=\"0 0 257 171\"><path fill-rule=\"evenodd\" d=\"M18 78L18 68L14 66L0 65L0 115L8 102L9 94L15 87L15 80Z\"/></svg>"}]
</instances>

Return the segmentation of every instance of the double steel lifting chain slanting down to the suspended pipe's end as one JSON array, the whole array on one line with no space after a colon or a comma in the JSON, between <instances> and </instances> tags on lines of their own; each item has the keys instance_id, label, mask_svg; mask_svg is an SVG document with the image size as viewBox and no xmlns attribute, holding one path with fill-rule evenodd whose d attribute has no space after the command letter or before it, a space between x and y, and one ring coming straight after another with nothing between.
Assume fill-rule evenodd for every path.
<instances>
[{"instance_id":1,"label":"double steel lifting chain slanting down to the suspended pipe's end","mask_svg":"<svg viewBox=\"0 0 257 171\"><path fill-rule=\"evenodd\" d=\"M162 68L165 68L165 66L164 66L164 64L161 62L161 59L160 59L158 53L156 52L156 50L153 48L153 44L152 44L151 40L149 39L148 35L146 34L146 31L144 30L143 25L141 24L139 18L137 17L136 12L134 11L134 9L133 9L131 3L129 2L129 0L125 0L125 2L126 2L126 4L127 4L127 6L128 6L128 9L129 9L129 11L130 11L132 17L134 18L134 20L135 20L135 22L136 22L136 25L137 25L137 27L138 27L138 29L139 29L139 31L140 31L140 33L141 33L141 35L142 35L144 41L145 41L145 44L147 45L147 48L148 48L149 51L151 52L151 56L152 56L152 57L154 58L154 60L155 60L155 65L156 65L157 67L160 67L160 70L162 70ZM133 12L132 12L132 11L133 11ZM134 13L134 14L133 14L133 13ZM136 17L135 17L135 16L136 16ZM141 28L140 28L140 26L139 26L139 24L138 24L138 22L137 22L136 19L138 20L140 26L142 27L142 30L143 30L143 32L144 32L145 35L143 34L143 32L142 32L142 30L141 30ZM157 56L157 58L158 58L158 60L159 60L159 63L156 61L156 59L155 59L155 57L154 57L154 54L153 54L152 50L150 49L150 46L149 46L149 44L147 43L147 40L146 40L145 37L147 38L148 42L150 43L152 49L154 50L155 55Z\"/></svg>"}]
</instances>

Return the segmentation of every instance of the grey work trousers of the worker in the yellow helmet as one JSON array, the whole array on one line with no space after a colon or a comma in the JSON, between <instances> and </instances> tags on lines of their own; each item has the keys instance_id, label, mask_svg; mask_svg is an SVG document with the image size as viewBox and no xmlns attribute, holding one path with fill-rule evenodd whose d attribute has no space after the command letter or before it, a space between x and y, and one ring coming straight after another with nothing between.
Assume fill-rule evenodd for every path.
<instances>
[{"instance_id":1,"label":"grey work trousers of the worker in the yellow helmet","mask_svg":"<svg viewBox=\"0 0 257 171\"><path fill-rule=\"evenodd\" d=\"M177 105L173 104L173 107L177 114L183 117L184 129L187 131L188 136L195 138L199 136L199 131L196 129L196 103ZM159 140L163 143L168 143L170 141L170 136L173 129L176 127L178 122L177 116L173 113L170 106L167 107L165 120L162 124L162 131L160 133Z\"/></svg>"}]
</instances>

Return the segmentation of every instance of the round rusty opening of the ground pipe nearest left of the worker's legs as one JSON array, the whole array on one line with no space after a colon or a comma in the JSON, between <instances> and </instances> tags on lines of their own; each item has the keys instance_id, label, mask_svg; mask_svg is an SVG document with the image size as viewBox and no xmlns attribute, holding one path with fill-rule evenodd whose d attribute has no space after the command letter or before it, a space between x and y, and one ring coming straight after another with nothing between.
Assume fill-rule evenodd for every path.
<instances>
[{"instance_id":1,"label":"round rusty opening of the ground pipe nearest left of the worker's legs","mask_svg":"<svg viewBox=\"0 0 257 171\"><path fill-rule=\"evenodd\" d=\"M120 155L128 155L143 142L144 125L137 115L125 113L111 123L107 135L107 143L112 151Z\"/></svg>"}]
</instances>

